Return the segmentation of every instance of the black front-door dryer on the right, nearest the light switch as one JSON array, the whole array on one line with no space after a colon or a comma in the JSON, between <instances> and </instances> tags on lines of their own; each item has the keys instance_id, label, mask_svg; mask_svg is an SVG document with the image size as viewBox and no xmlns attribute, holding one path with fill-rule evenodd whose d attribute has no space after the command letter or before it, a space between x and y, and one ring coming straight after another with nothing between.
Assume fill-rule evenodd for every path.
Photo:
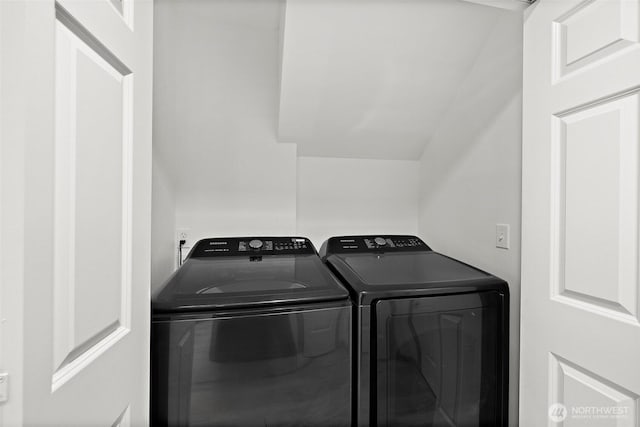
<instances>
[{"instance_id":1,"label":"black front-door dryer on the right, nearest the light switch","mask_svg":"<svg viewBox=\"0 0 640 427\"><path fill-rule=\"evenodd\" d=\"M507 426L509 289L416 236L342 236L320 255L354 302L361 426Z\"/></svg>"}]
</instances>

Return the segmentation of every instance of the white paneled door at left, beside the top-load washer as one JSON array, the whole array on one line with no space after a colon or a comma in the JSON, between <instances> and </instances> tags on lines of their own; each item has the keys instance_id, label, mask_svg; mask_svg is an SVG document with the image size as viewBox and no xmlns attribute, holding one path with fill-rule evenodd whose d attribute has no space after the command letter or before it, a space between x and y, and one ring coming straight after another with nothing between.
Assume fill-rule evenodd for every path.
<instances>
[{"instance_id":1,"label":"white paneled door at left, beside the top-load washer","mask_svg":"<svg viewBox=\"0 0 640 427\"><path fill-rule=\"evenodd\" d=\"M0 422L146 425L153 3L0 19Z\"/></svg>"}]
</instances>

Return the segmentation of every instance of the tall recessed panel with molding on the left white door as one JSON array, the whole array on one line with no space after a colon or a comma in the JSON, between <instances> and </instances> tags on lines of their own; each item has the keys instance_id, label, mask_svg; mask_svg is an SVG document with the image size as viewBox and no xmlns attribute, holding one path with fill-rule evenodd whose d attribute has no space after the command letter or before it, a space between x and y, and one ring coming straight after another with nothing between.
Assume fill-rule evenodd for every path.
<instances>
[{"instance_id":1,"label":"tall recessed panel with molding on the left white door","mask_svg":"<svg viewBox=\"0 0 640 427\"><path fill-rule=\"evenodd\" d=\"M130 330L133 209L133 73L56 16L52 391Z\"/></svg>"}]
</instances>

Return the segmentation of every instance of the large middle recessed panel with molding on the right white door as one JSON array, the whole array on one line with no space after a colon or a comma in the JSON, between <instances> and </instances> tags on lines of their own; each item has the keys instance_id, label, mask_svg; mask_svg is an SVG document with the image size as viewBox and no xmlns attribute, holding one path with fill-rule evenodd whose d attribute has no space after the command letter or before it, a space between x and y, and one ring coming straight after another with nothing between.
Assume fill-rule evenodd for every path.
<instances>
[{"instance_id":1,"label":"large middle recessed panel with molding on the right white door","mask_svg":"<svg viewBox=\"0 0 640 427\"><path fill-rule=\"evenodd\" d=\"M553 115L551 141L551 299L632 323L640 283L639 91ZM589 227L596 223L608 226ZM586 287L592 281L597 286Z\"/></svg>"}]
</instances>

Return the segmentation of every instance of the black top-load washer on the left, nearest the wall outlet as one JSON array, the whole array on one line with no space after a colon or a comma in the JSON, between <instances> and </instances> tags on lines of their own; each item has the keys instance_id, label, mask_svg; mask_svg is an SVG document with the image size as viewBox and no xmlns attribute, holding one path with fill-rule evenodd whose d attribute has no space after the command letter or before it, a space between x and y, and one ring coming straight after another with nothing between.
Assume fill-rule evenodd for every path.
<instances>
[{"instance_id":1,"label":"black top-load washer on the left, nearest the wall outlet","mask_svg":"<svg viewBox=\"0 0 640 427\"><path fill-rule=\"evenodd\" d=\"M308 239L200 240L152 296L151 425L351 425L351 313Z\"/></svg>"}]
</instances>

